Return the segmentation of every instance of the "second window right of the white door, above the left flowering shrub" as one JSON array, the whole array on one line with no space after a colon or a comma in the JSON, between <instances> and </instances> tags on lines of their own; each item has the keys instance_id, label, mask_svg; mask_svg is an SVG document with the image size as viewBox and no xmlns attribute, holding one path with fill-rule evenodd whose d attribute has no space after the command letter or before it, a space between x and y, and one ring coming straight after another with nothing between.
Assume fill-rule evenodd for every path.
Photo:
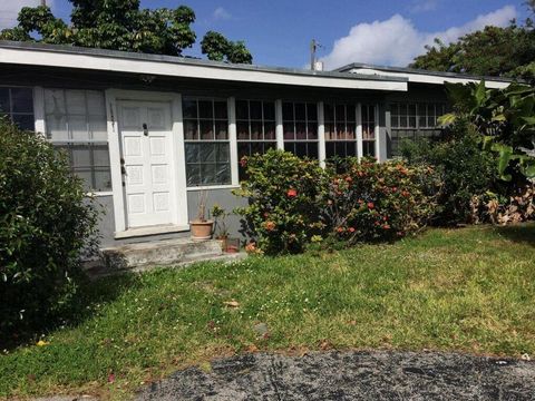
<instances>
[{"instance_id":1,"label":"second window right of the white door, above the left flowering shrub","mask_svg":"<svg viewBox=\"0 0 535 401\"><path fill-rule=\"evenodd\" d=\"M275 102L236 100L237 159L276 149ZM245 168L239 165L240 179L245 179Z\"/></svg>"}]
</instances>

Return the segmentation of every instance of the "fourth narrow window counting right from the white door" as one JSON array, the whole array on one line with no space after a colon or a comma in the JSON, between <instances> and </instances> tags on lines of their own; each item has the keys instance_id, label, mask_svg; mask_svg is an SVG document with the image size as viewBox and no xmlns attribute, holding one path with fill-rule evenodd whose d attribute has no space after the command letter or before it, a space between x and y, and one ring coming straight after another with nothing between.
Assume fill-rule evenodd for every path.
<instances>
[{"instance_id":1,"label":"fourth narrow window counting right from the white door","mask_svg":"<svg viewBox=\"0 0 535 401\"><path fill-rule=\"evenodd\" d=\"M357 156L357 106L324 104L325 156Z\"/></svg>"}]
</instances>

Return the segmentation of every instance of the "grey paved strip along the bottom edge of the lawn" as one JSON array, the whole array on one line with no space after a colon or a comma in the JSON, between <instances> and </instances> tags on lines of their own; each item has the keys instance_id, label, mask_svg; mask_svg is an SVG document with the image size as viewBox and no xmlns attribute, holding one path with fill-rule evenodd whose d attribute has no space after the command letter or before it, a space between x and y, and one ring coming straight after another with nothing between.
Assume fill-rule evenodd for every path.
<instances>
[{"instance_id":1,"label":"grey paved strip along the bottom edge of the lawn","mask_svg":"<svg viewBox=\"0 0 535 401\"><path fill-rule=\"evenodd\" d=\"M535 400L535 363L447 353L252 354L191 368L138 400Z\"/></svg>"}]
</instances>

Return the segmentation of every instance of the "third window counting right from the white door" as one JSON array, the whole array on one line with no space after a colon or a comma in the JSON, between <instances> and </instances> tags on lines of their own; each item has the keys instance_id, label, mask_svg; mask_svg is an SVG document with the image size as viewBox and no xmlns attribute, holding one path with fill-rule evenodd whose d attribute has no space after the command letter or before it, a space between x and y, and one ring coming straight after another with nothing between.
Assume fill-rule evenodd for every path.
<instances>
[{"instance_id":1,"label":"third window counting right from the white door","mask_svg":"<svg viewBox=\"0 0 535 401\"><path fill-rule=\"evenodd\" d=\"M318 105L283 102L284 150L299 157L318 158Z\"/></svg>"}]
</instances>

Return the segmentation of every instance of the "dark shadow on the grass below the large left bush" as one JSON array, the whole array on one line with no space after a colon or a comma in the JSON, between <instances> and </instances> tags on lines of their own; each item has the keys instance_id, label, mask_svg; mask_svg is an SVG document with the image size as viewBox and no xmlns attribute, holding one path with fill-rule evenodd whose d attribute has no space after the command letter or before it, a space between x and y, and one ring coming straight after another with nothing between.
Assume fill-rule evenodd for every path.
<instances>
[{"instance_id":1,"label":"dark shadow on the grass below the large left bush","mask_svg":"<svg viewBox=\"0 0 535 401\"><path fill-rule=\"evenodd\" d=\"M138 274L123 273L90 281L87 276L78 278L78 290L71 302L55 315L47 316L45 325L35 326L25 332L0 335L0 349L13 350L35 342L39 335L58 330L60 326L76 326L90 319L97 304L115 301L125 291L142 284ZM4 333L6 334L6 333Z\"/></svg>"}]
</instances>

